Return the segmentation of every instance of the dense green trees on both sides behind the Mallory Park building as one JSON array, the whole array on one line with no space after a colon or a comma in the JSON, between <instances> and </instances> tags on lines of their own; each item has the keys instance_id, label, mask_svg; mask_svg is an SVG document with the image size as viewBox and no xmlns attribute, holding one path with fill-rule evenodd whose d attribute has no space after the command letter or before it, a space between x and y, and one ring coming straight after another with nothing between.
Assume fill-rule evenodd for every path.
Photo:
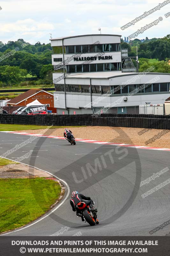
<instances>
[{"instance_id":1,"label":"dense green trees on both sides behind the Mallory Park building","mask_svg":"<svg viewBox=\"0 0 170 256\"><path fill-rule=\"evenodd\" d=\"M126 41L126 42L125 42ZM138 47L139 71L143 72L154 66L152 72L170 73L170 35L163 38L146 37L143 40L134 39L123 41L122 49L128 49L128 55L136 56ZM26 80L29 74L33 79L52 82L54 72L51 64L52 48L50 44L30 44L23 39L9 41L7 44L0 42L0 84L20 83ZM156 59L151 62L151 59ZM132 59L134 64L136 60Z\"/></svg>"}]
</instances>

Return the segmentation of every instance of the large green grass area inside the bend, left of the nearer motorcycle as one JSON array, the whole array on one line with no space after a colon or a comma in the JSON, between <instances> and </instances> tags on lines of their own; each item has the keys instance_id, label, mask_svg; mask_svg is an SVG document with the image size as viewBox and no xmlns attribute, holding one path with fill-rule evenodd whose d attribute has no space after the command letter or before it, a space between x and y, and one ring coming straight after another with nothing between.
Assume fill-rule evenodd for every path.
<instances>
[{"instance_id":1,"label":"large green grass area inside the bend, left of the nearer motorcycle","mask_svg":"<svg viewBox=\"0 0 170 256\"><path fill-rule=\"evenodd\" d=\"M60 193L61 187L54 180L0 179L0 233L36 220L50 209ZM17 205L21 201L23 204Z\"/></svg>"}]
</instances>

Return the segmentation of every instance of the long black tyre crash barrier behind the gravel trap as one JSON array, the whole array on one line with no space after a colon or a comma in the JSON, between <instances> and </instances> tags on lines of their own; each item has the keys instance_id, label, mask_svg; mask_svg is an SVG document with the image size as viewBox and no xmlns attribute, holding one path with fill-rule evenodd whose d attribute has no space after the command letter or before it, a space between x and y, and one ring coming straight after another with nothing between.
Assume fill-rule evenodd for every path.
<instances>
[{"instance_id":1,"label":"long black tyre crash barrier behind the gravel trap","mask_svg":"<svg viewBox=\"0 0 170 256\"><path fill-rule=\"evenodd\" d=\"M110 116L109 116L110 115ZM130 114L129 114L130 115ZM138 117L137 117L138 116ZM152 116L152 115L148 115ZM149 129L170 130L170 116L161 118L144 117L142 115L116 115L102 114L94 117L91 114L83 115L0 115L0 124L32 124L32 125L56 125L56 126L113 126L135 127Z\"/></svg>"}]
</instances>

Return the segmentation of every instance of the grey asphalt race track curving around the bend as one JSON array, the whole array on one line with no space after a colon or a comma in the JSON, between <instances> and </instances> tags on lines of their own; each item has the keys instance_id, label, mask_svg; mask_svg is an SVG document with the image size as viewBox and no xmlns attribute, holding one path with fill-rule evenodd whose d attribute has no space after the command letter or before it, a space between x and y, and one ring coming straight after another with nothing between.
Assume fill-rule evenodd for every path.
<instances>
[{"instance_id":1,"label":"grey asphalt race track curving around the bend","mask_svg":"<svg viewBox=\"0 0 170 256\"><path fill-rule=\"evenodd\" d=\"M3 140L0 154L29 138L26 135L0 132L0 141ZM149 236L150 230L170 219L170 184L145 198L141 196L169 179L170 171L140 187L142 180L169 167L168 151L84 142L71 146L66 140L37 137L7 158L14 160L27 153L22 151L42 149L48 151L33 151L33 157L21 163L65 180L70 191L78 190L91 196L98 209L100 224L91 227L82 222L72 211L69 196L48 217L6 236L50 236L65 226L68 230L63 233L64 236L73 236L77 232L81 232L82 236ZM65 196L67 192L66 189ZM50 193L53 191L49 188L49 196ZM169 232L170 225L167 225L152 236L165 236Z\"/></svg>"}]
</instances>

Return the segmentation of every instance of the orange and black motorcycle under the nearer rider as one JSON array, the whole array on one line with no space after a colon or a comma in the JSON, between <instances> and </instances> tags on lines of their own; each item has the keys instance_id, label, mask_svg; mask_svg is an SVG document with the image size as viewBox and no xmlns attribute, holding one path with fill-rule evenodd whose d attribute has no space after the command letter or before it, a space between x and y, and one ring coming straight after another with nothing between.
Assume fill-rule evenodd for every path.
<instances>
[{"instance_id":1,"label":"orange and black motorcycle under the nearer rider","mask_svg":"<svg viewBox=\"0 0 170 256\"><path fill-rule=\"evenodd\" d=\"M89 205L84 202L79 202L76 207L81 211L81 213L78 213L78 216L83 216L85 222L88 222L90 226L99 224L99 220L97 219L97 213L95 211L92 213Z\"/></svg>"}]
</instances>

